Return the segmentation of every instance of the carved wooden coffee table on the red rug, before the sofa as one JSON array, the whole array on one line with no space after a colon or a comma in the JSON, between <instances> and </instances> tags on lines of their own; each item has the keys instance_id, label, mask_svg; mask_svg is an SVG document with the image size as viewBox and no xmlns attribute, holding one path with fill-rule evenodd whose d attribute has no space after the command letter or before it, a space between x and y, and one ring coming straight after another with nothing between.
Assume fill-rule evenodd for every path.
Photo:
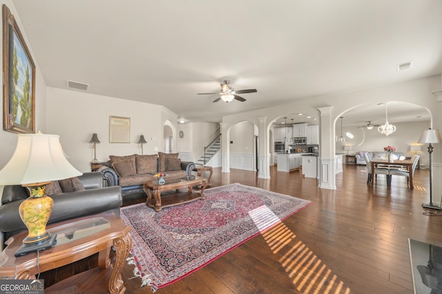
<instances>
[{"instance_id":1,"label":"carved wooden coffee table on the red rug, before the sofa","mask_svg":"<svg viewBox=\"0 0 442 294\"><path fill-rule=\"evenodd\" d=\"M147 194L146 204L153 207L155 211L161 211L162 207L171 207L173 205L183 204L194 200L204 200L204 189L206 189L207 180L199 176L185 176L182 178L164 178L166 182L163 185L158 184L157 178L148 180L143 185ZM193 186L201 186L200 191L192 191ZM161 196L161 192L185 189L188 191L170 193Z\"/></svg>"}]
</instances>

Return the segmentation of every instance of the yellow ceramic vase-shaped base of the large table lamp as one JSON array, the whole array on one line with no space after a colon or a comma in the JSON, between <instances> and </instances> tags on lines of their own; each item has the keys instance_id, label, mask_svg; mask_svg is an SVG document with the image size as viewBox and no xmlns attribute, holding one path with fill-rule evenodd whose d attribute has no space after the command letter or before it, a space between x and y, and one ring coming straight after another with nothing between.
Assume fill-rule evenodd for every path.
<instances>
[{"instance_id":1,"label":"yellow ceramic vase-shaped base of the large table lamp","mask_svg":"<svg viewBox=\"0 0 442 294\"><path fill-rule=\"evenodd\" d=\"M30 196L19 207L21 220L28 228L28 236L23 240L23 244L35 244L42 242L50 237L46 231L50 213L54 201L52 198L44 195L44 188L48 182L23 185L30 191Z\"/></svg>"}]
</instances>

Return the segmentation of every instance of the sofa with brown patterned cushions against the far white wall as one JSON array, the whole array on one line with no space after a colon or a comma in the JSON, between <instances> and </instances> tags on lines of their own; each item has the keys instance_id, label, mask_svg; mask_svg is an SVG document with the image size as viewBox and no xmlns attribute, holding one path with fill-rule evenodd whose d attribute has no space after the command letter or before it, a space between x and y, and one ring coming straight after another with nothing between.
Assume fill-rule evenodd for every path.
<instances>
[{"instance_id":1,"label":"sofa with brown patterned cushions against the far white wall","mask_svg":"<svg viewBox=\"0 0 442 294\"><path fill-rule=\"evenodd\" d=\"M129 156L109 156L111 160L100 167L108 186L122 188L122 196L138 194L144 196L143 184L157 173L165 178L191 176L195 163L181 161L178 154L158 152L152 155L133 154Z\"/></svg>"}]
</instances>

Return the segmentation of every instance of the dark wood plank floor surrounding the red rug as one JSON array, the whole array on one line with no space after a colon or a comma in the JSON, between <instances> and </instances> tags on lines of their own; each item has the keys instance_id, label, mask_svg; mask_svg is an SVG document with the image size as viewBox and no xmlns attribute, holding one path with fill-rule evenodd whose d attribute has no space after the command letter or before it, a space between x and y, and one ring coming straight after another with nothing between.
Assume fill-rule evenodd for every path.
<instances>
[{"instance_id":1,"label":"dark wood plank floor surrounding the red rug","mask_svg":"<svg viewBox=\"0 0 442 294\"><path fill-rule=\"evenodd\" d=\"M413 191L402 177L393 177L392 187L382 175L374 186L366 180L365 167L355 165L344 166L336 190L318 189L316 179L299 171L272 167L271 179L262 180L253 171L215 169L213 187L240 182L312 203L157 293L412 293L408 238L442 246L442 218L425 216L421 207L429 195L428 169L416 169ZM59 275L87 266L94 261ZM151 293L132 271L124 266L126 293Z\"/></svg>"}]
</instances>

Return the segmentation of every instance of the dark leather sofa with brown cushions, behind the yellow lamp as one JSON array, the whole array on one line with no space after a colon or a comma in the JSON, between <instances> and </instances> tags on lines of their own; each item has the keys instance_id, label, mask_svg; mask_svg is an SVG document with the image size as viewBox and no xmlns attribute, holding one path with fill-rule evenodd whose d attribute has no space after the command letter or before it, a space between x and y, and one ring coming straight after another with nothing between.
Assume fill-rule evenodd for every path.
<instances>
[{"instance_id":1,"label":"dark leather sofa with brown cushions, behind the yellow lamp","mask_svg":"<svg viewBox=\"0 0 442 294\"><path fill-rule=\"evenodd\" d=\"M120 187L103 187L103 176L99 172L84 173L77 178L84 190L48 195L54 200L48 224L107 211L119 216L123 203ZM10 236L27 230L19 216L19 205L28 198L28 191L21 185L1 188L0 249L3 249Z\"/></svg>"}]
</instances>

